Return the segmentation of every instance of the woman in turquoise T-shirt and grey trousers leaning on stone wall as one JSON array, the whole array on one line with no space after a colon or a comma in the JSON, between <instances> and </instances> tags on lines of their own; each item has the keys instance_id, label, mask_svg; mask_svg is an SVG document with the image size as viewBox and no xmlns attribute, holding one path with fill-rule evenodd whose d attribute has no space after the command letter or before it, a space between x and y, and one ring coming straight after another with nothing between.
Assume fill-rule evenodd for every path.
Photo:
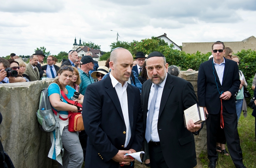
<instances>
[{"instance_id":1,"label":"woman in turquoise T-shirt and grey trousers leaning on stone wall","mask_svg":"<svg viewBox=\"0 0 256 168\"><path fill-rule=\"evenodd\" d=\"M71 98L74 95L74 90L69 86L73 78L74 68L70 66L61 67L57 74L58 78L48 87L48 96L51 102L51 106L54 110L59 110L62 118L68 118L68 111L77 112L78 107L67 103L65 98L61 95L60 90L63 90L67 98ZM60 101L60 95L63 101ZM83 103L83 95L80 94L78 103ZM83 164L83 149L79 142L78 132L68 131L68 120L59 121L59 130L61 134L63 148L65 149L63 160L63 167L82 167ZM61 143L61 142L60 142ZM61 151L56 151L56 156L60 155ZM49 156L49 155L48 155Z\"/></svg>"}]
</instances>

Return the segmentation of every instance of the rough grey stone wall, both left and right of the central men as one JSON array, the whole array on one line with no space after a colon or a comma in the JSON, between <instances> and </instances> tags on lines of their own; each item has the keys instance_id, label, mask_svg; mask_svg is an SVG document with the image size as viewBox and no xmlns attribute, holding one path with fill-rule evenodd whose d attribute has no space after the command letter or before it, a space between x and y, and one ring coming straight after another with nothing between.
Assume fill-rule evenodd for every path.
<instances>
[{"instance_id":1,"label":"rough grey stone wall, both left and right of the central men","mask_svg":"<svg viewBox=\"0 0 256 168\"><path fill-rule=\"evenodd\" d=\"M198 71L180 71L179 77L191 82L197 93ZM50 149L48 133L39 129L36 111L40 92L52 81L34 81L0 84L0 112L3 121L0 133L4 150L15 167L56 167L56 162L47 157ZM195 137L197 158L206 150L206 126ZM196 167L202 167L197 160Z\"/></svg>"}]
</instances>

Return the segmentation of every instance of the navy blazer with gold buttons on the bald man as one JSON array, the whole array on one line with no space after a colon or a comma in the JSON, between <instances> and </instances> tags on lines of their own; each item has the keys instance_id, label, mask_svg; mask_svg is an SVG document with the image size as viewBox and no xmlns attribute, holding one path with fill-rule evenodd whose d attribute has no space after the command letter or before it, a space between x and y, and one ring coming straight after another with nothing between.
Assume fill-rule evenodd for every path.
<instances>
[{"instance_id":1,"label":"navy blazer with gold buttons on the bald man","mask_svg":"<svg viewBox=\"0 0 256 168\"><path fill-rule=\"evenodd\" d=\"M143 119L139 89L128 84L127 98L131 138L124 148L126 126L110 76L86 88L83 100L83 123L88 134L85 167L118 168L119 163L111 160L118 150L141 151Z\"/></svg>"}]
</instances>

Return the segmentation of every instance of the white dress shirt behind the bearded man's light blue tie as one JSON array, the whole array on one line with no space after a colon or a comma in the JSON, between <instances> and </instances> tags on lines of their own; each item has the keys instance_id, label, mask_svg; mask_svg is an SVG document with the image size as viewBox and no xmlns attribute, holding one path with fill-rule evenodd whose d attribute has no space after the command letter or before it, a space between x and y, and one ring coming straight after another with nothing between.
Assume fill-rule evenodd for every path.
<instances>
[{"instance_id":1,"label":"white dress shirt behind the bearded man's light blue tie","mask_svg":"<svg viewBox=\"0 0 256 168\"><path fill-rule=\"evenodd\" d=\"M162 83L159 84L158 87L158 92L157 92L157 100L156 100L156 104L155 104L155 111L154 111L154 115L153 115L153 119L152 119L152 124L151 124L151 141L153 142L160 142L159 139L159 135L158 135L158 130L157 130L157 123L158 123L158 116L159 116L159 109L160 109L160 103L161 103L161 98L162 98L162 94L163 94L163 87L165 85L166 82L166 78L167 78L167 73L166 73L166 77L163 80ZM152 100L152 97L154 95L155 92L155 87L154 87L154 83L152 83L151 88L150 88L150 93L149 93L149 97L148 97L148 104L147 104L147 116L148 116L148 110L150 107L150 103Z\"/></svg>"}]
</instances>

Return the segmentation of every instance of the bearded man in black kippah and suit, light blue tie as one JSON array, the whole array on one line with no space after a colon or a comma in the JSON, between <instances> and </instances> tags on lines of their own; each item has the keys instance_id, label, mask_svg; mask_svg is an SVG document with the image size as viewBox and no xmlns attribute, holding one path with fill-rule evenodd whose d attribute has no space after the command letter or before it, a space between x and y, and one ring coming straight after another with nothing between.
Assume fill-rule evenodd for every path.
<instances>
[{"instance_id":1,"label":"bearded man in black kippah and suit, light blue tie","mask_svg":"<svg viewBox=\"0 0 256 168\"><path fill-rule=\"evenodd\" d=\"M149 146L152 168L192 168L196 154L194 134L202 124L184 123L184 109L197 103L190 82L170 75L168 63L160 52L152 52L146 61L150 80L142 86L141 100L145 143Z\"/></svg>"}]
</instances>

